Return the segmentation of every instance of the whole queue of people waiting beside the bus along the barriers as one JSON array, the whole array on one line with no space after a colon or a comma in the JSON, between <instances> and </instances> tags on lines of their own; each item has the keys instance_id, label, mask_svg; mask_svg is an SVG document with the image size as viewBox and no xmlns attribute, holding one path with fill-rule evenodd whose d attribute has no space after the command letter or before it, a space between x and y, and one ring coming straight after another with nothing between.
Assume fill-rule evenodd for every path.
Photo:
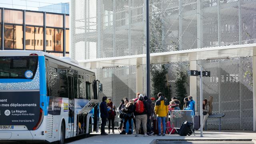
<instances>
[{"instance_id":1,"label":"whole queue of people waiting beside the bus along the barriers","mask_svg":"<svg viewBox=\"0 0 256 144\"><path fill-rule=\"evenodd\" d=\"M148 98L140 93L136 94L136 98L122 99L118 111L120 112L120 124L119 129L122 130L120 134L132 134L132 121L134 122L136 129L136 137L139 136L139 132L144 134L145 137L154 134L152 131L152 116L156 114L158 136L165 136L166 132L166 116L168 111L181 110L180 101L176 97L172 97L170 102L159 92L158 100L155 102L155 98ZM195 101L192 96L184 98L183 110L192 110L195 115ZM207 100L203 101L203 126L206 119L209 116L209 104ZM121 118L122 115L122 118ZM108 134L110 134L110 128L112 127L112 134L114 134L114 118L116 116L114 103L110 98L104 96L100 104L100 117L102 118L101 134L107 135L105 132L106 120L108 120ZM127 130L126 123L128 122L129 128ZM162 130L161 130L162 123ZM128 132L126 132L128 131ZM163 134L162 134L163 132Z\"/></svg>"}]
</instances>

